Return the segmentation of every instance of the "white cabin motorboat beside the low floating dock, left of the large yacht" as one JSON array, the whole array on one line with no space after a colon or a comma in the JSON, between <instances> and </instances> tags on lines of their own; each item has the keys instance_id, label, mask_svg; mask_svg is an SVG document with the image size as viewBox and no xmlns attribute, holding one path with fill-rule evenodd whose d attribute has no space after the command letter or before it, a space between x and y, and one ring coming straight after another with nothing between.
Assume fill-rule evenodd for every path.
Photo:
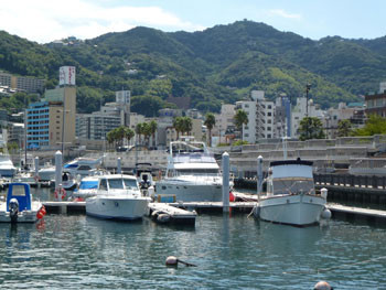
<instances>
[{"instance_id":1,"label":"white cabin motorboat beside the low floating dock, left of the large yacht","mask_svg":"<svg viewBox=\"0 0 386 290\"><path fill-rule=\"evenodd\" d=\"M95 196L86 198L86 214L108 219L139 219L151 201L142 196L133 175L101 175Z\"/></svg>"}]
</instances>

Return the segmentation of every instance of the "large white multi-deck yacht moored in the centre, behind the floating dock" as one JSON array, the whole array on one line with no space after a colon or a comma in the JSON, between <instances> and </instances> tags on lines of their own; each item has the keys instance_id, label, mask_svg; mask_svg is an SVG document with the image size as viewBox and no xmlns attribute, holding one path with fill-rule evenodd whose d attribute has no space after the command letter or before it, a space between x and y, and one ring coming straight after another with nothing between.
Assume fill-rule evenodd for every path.
<instances>
[{"instance_id":1,"label":"large white multi-deck yacht moored in the centre, behind the floating dock","mask_svg":"<svg viewBox=\"0 0 386 290\"><path fill-rule=\"evenodd\" d=\"M223 176L205 143L174 141L170 143L165 178L156 183L159 201L221 202ZM229 184L233 186L232 182Z\"/></svg>"}]
</instances>

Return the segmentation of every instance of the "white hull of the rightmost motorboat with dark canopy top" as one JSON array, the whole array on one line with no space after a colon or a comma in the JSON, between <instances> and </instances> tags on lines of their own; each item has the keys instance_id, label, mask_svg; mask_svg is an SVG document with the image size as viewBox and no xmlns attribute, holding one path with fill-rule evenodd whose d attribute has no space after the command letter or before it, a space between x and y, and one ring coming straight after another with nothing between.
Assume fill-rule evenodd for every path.
<instances>
[{"instance_id":1,"label":"white hull of the rightmost motorboat with dark canopy top","mask_svg":"<svg viewBox=\"0 0 386 290\"><path fill-rule=\"evenodd\" d=\"M271 196L260 201L259 217L279 224L309 226L320 222L324 207L325 200L317 195Z\"/></svg>"}]
</instances>

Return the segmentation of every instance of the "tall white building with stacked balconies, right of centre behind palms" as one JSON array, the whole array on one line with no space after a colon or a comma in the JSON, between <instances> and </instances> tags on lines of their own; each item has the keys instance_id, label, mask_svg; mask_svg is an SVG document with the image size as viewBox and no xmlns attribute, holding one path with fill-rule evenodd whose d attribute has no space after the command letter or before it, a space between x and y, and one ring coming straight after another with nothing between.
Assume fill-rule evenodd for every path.
<instances>
[{"instance_id":1,"label":"tall white building with stacked balconies, right of centre behind palms","mask_svg":"<svg viewBox=\"0 0 386 290\"><path fill-rule=\"evenodd\" d=\"M266 100L262 90L253 90L249 100L236 103L235 109L243 109L248 115L248 123L243 125L243 140L249 143L275 138L275 104Z\"/></svg>"}]
</instances>

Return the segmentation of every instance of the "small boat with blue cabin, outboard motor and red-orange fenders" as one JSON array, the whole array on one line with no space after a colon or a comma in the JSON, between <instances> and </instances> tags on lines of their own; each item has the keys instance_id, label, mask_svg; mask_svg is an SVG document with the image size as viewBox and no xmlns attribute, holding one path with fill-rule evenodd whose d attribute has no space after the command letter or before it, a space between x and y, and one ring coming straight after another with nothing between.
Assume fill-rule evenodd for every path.
<instances>
[{"instance_id":1,"label":"small boat with blue cabin, outboard motor and red-orange fenders","mask_svg":"<svg viewBox=\"0 0 386 290\"><path fill-rule=\"evenodd\" d=\"M7 201L0 202L0 222L34 223L45 215L45 208L40 201L32 201L28 183L12 182L9 184Z\"/></svg>"}]
</instances>

